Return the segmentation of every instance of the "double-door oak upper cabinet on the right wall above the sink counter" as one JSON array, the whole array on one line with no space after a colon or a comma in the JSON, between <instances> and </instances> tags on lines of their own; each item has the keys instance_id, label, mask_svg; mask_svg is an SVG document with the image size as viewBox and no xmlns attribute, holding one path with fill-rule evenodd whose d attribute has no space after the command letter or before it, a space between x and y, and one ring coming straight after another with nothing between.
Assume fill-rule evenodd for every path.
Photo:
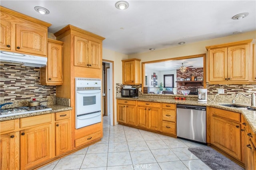
<instances>
[{"instance_id":1,"label":"double-door oak upper cabinet on the right wall above the sink counter","mask_svg":"<svg viewBox=\"0 0 256 170\"><path fill-rule=\"evenodd\" d=\"M252 39L208 46L208 82L252 82Z\"/></svg>"}]
</instances>

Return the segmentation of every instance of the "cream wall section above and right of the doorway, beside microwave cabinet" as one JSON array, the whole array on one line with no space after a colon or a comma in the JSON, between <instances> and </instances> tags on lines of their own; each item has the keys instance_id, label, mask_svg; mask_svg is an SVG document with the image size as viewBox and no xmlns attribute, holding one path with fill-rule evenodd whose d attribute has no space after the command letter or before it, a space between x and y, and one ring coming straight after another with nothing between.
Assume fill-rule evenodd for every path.
<instances>
[{"instance_id":1,"label":"cream wall section above and right of the doorway, beside microwave cabinet","mask_svg":"<svg viewBox=\"0 0 256 170\"><path fill-rule=\"evenodd\" d=\"M122 83L122 60L128 59L128 55L111 51L108 49L102 49L102 59L114 61L114 124L118 124L116 121L116 84ZM111 75L112 76L112 75Z\"/></svg>"}]
</instances>

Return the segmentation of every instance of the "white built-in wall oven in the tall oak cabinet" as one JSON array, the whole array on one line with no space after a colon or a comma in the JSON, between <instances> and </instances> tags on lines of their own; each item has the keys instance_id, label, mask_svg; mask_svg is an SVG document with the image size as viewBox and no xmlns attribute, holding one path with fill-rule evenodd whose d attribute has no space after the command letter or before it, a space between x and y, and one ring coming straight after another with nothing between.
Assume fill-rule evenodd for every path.
<instances>
[{"instance_id":1,"label":"white built-in wall oven in the tall oak cabinet","mask_svg":"<svg viewBox=\"0 0 256 170\"><path fill-rule=\"evenodd\" d=\"M76 129L102 121L101 80L75 78Z\"/></svg>"}]
</instances>

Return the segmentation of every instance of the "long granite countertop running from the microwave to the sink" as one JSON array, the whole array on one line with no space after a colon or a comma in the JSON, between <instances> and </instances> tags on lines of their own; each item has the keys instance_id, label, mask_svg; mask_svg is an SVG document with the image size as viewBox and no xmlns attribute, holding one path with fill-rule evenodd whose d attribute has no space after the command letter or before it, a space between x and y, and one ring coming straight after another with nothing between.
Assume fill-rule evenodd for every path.
<instances>
[{"instance_id":1,"label":"long granite countertop running from the microwave to the sink","mask_svg":"<svg viewBox=\"0 0 256 170\"><path fill-rule=\"evenodd\" d=\"M224 109L228 111L234 111L236 113L242 113L244 118L250 125L252 131L256 133L256 111L244 110L239 109L236 107L228 107L222 106L220 104L230 104L231 102L198 102L197 100L178 100L178 99L170 99L170 98L146 98L146 97L138 97L138 98L124 98L124 97L117 97L116 99L123 99L123 100L138 100L138 101L145 101L145 102L162 102L162 103L171 103L171 104L186 104L186 105L194 105L194 106L210 106L219 109ZM237 103L243 106L250 106L248 103Z\"/></svg>"}]
</instances>

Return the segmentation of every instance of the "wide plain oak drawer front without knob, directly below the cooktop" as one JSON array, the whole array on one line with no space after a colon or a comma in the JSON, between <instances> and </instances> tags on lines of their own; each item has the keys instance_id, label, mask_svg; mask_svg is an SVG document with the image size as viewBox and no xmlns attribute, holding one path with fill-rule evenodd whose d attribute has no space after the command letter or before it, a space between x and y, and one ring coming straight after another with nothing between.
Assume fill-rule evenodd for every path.
<instances>
[{"instance_id":1,"label":"wide plain oak drawer front without knob, directly below the cooktop","mask_svg":"<svg viewBox=\"0 0 256 170\"><path fill-rule=\"evenodd\" d=\"M52 114L25 117L20 119L20 128L40 125L43 123L51 123Z\"/></svg>"}]
</instances>

